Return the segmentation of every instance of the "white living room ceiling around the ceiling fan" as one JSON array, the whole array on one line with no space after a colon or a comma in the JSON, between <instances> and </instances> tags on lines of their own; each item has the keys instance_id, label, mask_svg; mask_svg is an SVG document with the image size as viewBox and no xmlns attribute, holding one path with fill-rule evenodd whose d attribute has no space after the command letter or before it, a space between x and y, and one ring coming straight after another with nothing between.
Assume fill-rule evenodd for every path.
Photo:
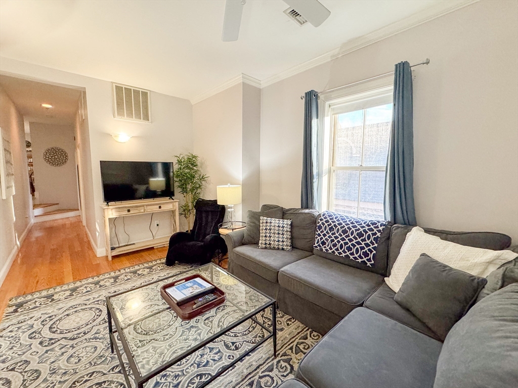
<instances>
[{"instance_id":1,"label":"white living room ceiling around the ceiling fan","mask_svg":"<svg viewBox=\"0 0 518 388\"><path fill-rule=\"evenodd\" d=\"M320 1L331 16L315 28L288 19L281 0L248 0L239 40L223 42L224 0L1 0L0 55L193 99L237 74L265 80L416 13L466 3Z\"/></svg>"}]
</instances>

